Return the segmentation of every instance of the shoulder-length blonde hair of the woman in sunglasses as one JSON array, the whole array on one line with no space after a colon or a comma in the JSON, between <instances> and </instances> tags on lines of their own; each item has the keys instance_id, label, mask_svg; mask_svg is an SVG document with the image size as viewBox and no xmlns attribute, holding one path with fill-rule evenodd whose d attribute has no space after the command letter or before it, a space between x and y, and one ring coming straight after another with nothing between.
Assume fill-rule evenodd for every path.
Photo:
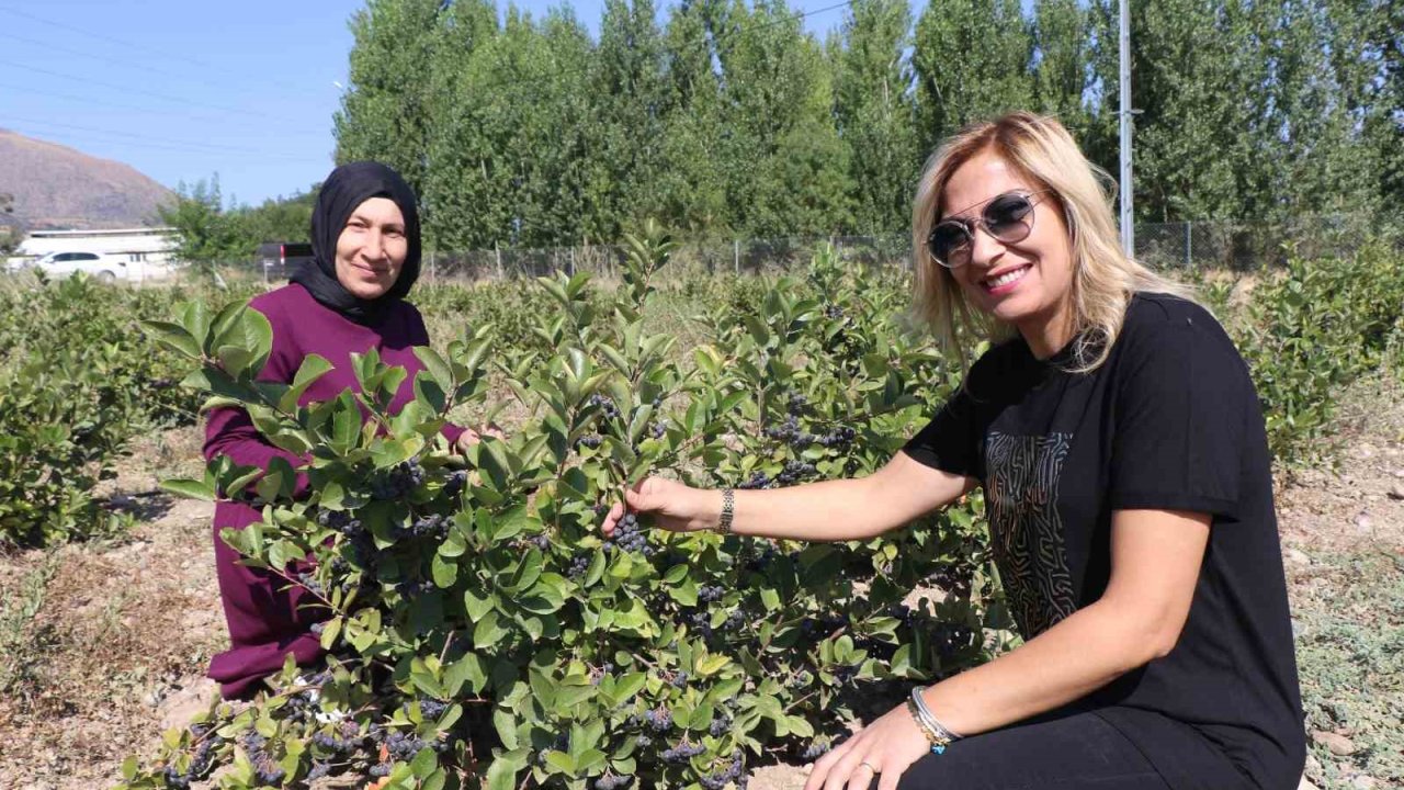
<instances>
[{"instance_id":1,"label":"shoulder-length blonde hair of the woman in sunglasses","mask_svg":"<svg viewBox=\"0 0 1404 790\"><path fill-rule=\"evenodd\" d=\"M962 364L966 360L956 337L959 329L994 342L1016 333L1012 325L972 306L951 271L927 252L927 236L945 209L941 201L946 184L956 169L980 153L998 156L1032 188L1047 190L1045 201L1056 200L1061 209L1073 266L1073 336L1077 339L1070 363L1073 371L1097 370L1106 361L1133 294L1146 291L1193 299L1192 290L1122 252L1111 208L1115 181L1082 156L1067 129L1049 117L1011 112L969 125L949 138L927 160L917 183L911 212L915 312Z\"/></svg>"}]
</instances>

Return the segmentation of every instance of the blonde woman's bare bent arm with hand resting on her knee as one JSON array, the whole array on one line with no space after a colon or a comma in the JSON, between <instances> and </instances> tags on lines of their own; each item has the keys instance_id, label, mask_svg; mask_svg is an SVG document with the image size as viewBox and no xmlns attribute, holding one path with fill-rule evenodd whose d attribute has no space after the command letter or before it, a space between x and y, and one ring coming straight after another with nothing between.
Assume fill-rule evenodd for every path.
<instances>
[{"instance_id":1,"label":"blonde woman's bare bent arm with hand resting on her knee","mask_svg":"<svg viewBox=\"0 0 1404 790\"><path fill-rule=\"evenodd\" d=\"M927 689L927 706L953 732L974 735L1085 697L1167 655L1189 617L1209 523L1207 513L1115 512L1102 597L1018 649ZM820 759L804 787L835 790L851 775L866 787L866 769L855 769L868 762L879 790L892 790L925 752L924 735L899 707Z\"/></svg>"}]
</instances>

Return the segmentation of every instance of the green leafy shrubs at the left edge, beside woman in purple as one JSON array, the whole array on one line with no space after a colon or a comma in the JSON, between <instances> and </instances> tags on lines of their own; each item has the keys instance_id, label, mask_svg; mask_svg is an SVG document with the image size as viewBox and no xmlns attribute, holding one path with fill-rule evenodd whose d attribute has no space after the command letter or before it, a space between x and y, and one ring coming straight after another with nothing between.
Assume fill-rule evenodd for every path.
<instances>
[{"instance_id":1,"label":"green leafy shrubs at the left edge, beside woman in purple","mask_svg":"<svg viewBox=\"0 0 1404 790\"><path fill-rule=\"evenodd\" d=\"M184 294L0 283L0 550L108 527L93 486L129 439L195 419L199 401L176 385L187 365L139 328Z\"/></svg>"}]
</instances>

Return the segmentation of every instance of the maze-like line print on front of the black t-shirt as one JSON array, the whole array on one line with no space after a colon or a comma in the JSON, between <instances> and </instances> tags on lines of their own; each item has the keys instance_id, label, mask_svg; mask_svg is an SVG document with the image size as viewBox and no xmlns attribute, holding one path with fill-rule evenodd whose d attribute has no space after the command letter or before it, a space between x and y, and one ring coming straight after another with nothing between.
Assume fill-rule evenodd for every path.
<instances>
[{"instance_id":1,"label":"maze-like line print on front of the black t-shirt","mask_svg":"<svg viewBox=\"0 0 1404 790\"><path fill-rule=\"evenodd\" d=\"M1077 609L1057 512L1059 475L1071 444L1071 433L986 437L994 559L1025 638Z\"/></svg>"}]
</instances>

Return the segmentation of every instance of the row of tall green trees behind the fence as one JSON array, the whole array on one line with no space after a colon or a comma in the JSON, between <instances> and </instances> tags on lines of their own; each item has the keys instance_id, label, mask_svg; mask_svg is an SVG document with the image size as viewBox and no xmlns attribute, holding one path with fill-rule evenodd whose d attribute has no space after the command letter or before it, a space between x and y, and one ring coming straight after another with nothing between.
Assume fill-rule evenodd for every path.
<instances>
[{"instance_id":1,"label":"row of tall green trees behind the fence","mask_svg":"<svg viewBox=\"0 0 1404 790\"><path fill-rule=\"evenodd\" d=\"M571 8L369 0L337 160L380 159L438 249L889 233L960 125L1053 112L1118 171L1116 0L785 0ZM660 21L660 15L665 15ZM1139 221L1373 215L1404 197L1404 4L1132 3ZM1393 198L1393 200L1391 200Z\"/></svg>"}]
</instances>

